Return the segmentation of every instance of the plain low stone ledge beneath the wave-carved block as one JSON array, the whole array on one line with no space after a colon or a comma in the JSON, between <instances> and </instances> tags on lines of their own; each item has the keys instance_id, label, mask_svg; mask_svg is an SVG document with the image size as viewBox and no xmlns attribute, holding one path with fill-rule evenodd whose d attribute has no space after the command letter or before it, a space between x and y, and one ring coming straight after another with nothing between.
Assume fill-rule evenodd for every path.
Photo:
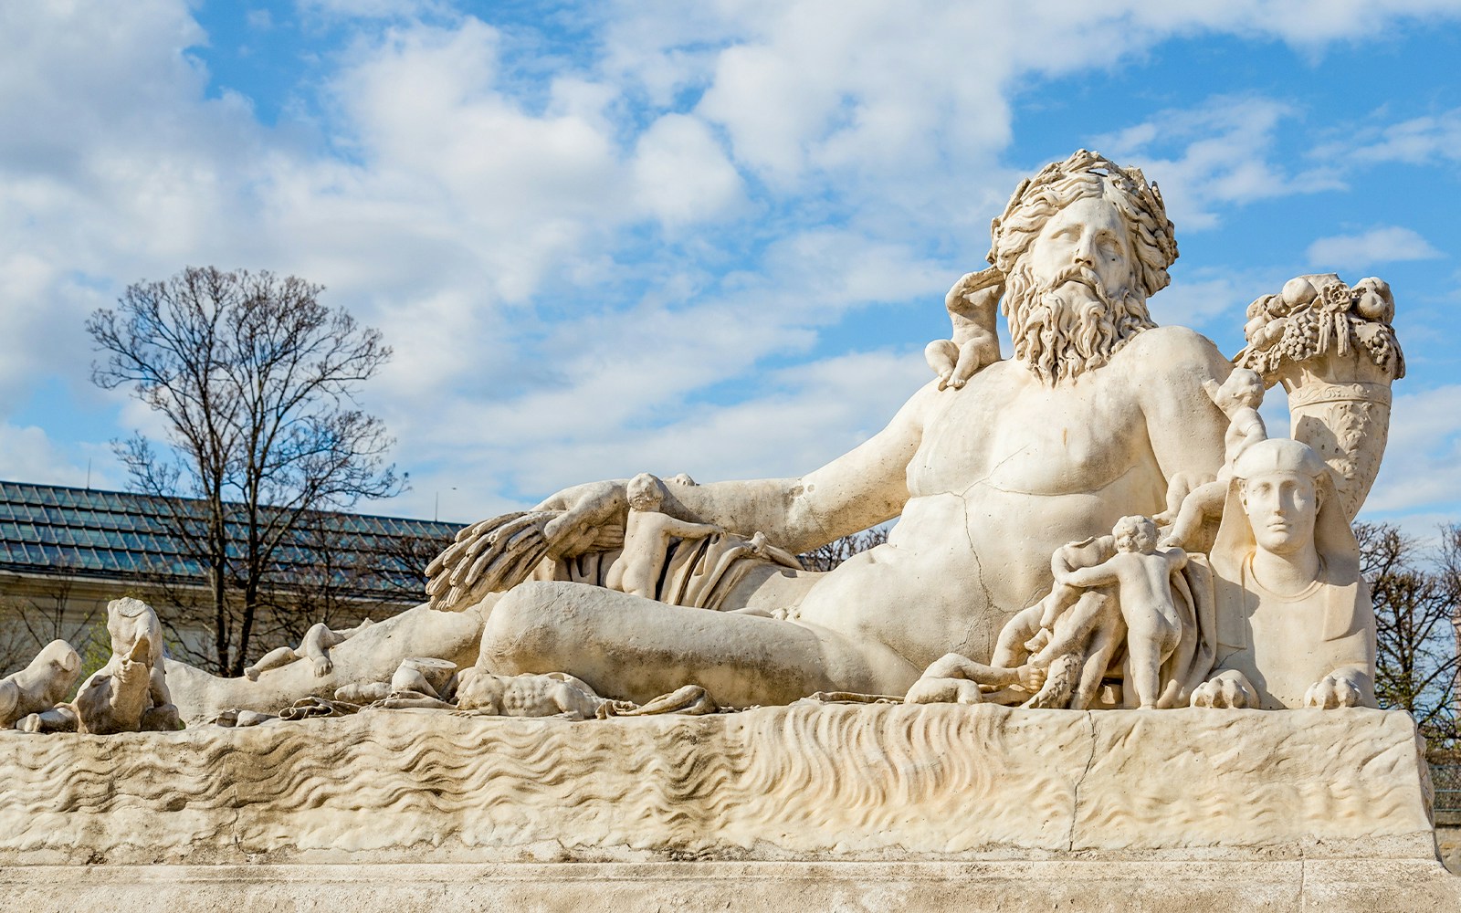
<instances>
[{"instance_id":1,"label":"plain low stone ledge beneath the wave-carved block","mask_svg":"<svg viewBox=\"0 0 1461 913\"><path fill-rule=\"evenodd\" d=\"M1461 878L1394 859L26 866L0 891L25 913L1461 910Z\"/></svg>"}]
</instances>

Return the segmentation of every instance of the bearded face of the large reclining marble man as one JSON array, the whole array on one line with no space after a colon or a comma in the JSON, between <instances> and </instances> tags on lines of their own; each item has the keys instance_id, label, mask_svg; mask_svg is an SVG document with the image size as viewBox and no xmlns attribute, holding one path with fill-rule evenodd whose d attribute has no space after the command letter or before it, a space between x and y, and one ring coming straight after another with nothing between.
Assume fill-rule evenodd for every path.
<instances>
[{"instance_id":1,"label":"bearded face of the large reclining marble man","mask_svg":"<svg viewBox=\"0 0 1461 913\"><path fill-rule=\"evenodd\" d=\"M1004 307L1015 358L1046 383L1099 368L1150 327L1116 206L1083 197L1052 215L1008 276Z\"/></svg>"}]
</instances>

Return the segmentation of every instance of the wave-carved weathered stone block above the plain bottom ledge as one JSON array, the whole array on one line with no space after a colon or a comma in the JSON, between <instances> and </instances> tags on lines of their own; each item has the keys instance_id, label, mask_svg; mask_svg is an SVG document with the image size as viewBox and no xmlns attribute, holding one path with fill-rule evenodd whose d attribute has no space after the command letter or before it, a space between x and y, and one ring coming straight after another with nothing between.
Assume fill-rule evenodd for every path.
<instances>
[{"instance_id":1,"label":"wave-carved weathered stone block above the plain bottom ledge","mask_svg":"<svg viewBox=\"0 0 1461 913\"><path fill-rule=\"evenodd\" d=\"M0 738L0 862L1435 859L1378 710L820 706Z\"/></svg>"}]
</instances>

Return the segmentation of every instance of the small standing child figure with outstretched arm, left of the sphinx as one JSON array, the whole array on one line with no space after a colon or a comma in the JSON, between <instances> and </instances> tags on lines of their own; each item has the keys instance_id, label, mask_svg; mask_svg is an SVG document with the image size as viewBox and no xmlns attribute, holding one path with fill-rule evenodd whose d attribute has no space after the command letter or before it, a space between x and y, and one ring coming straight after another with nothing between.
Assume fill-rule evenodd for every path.
<instances>
[{"instance_id":1,"label":"small standing child figure with outstretched arm, left of the sphinx","mask_svg":"<svg viewBox=\"0 0 1461 913\"><path fill-rule=\"evenodd\" d=\"M1087 568L1061 571L1065 586L1097 587L1115 583L1121 618L1126 622L1131 681L1143 710L1156 708L1161 695L1161 663L1178 649L1182 619L1172 602L1172 574L1186 567L1186 552L1157 548L1157 524L1150 517L1122 517L1110 530L1116 554Z\"/></svg>"}]
</instances>

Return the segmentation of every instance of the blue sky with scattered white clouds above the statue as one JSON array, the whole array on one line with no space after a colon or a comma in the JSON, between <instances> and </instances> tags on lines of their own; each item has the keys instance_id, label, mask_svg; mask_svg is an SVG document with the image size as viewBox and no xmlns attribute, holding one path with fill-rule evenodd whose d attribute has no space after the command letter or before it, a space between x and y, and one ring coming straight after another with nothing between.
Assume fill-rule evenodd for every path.
<instances>
[{"instance_id":1,"label":"blue sky with scattered white clouds above the statue","mask_svg":"<svg viewBox=\"0 0 1461 913\"><path fill-rule=\"evenodd\" d=\"M0 478L126 486L108 441L158 427L82 321L188 264L386 333L412 491L367 510L796 475L926 381L989 219L1084 146L1161 186L1153 313L1227 354L1290 276L1391 282L1365 517L1424 533L1461 520L1458 58L1424 0L4 4Z\"/></svg>"}]
</instances>

